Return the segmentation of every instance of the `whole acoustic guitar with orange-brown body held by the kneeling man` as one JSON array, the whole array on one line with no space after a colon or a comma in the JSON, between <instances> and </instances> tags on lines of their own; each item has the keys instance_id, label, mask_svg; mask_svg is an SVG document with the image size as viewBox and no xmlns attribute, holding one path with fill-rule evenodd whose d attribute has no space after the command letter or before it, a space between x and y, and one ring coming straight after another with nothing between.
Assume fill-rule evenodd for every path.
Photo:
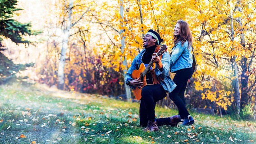
<instances>
[{"instance_id":1,"label":"whole acoustic guitar with orange-brown body held by the kneeling man","mask_svg":"<svg viewBox=\"0 0 256 144\"><path fill-rule=\"evenodd\" d=\"M160 47L159 51L157 52L156 56L160 56L160 55L164 54L166 49L167 49L166 45L162 45ZM132 78L133 79L140 78L140 80L143 81L142 88L146 85L153 85L153 81L151 81L150 76L146 76L147 72L150 70L153 63L154 62L150 61L147 66L145 66L144 63L142 63L138 70L134 70L132 72ZM135 96L135 99L140 100L142 98L142 88L140 89L140 88L136 87L133 90L133 94Z\"/></svg>"}]
</instances>

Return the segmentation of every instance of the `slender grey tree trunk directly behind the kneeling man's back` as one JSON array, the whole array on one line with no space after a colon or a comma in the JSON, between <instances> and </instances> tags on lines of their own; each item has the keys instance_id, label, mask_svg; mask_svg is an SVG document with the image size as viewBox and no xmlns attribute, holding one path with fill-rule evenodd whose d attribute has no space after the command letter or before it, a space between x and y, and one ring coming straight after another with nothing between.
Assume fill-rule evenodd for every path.
<instances>
[{"instance_id":1,"label":"slender grey tree trunk directly behind the kneeling man's back","mask_svg":"<svg viewBox=\"0 0 256 144\"><path fill-rule=\"evenodd\" d=\"M120 15L121 15L121 31L120 31L120 36L121 36L121 53L123 54L124 53L124 48L125 48L125 43L124 43L124 39L125 39L125 36L124 36L124 31L123 31L123 0L120 0L121 4L120 4ZM126 72L127 72L127 61L126 61L126 57L125 55L123 54L123 65L124 65L124 70L123 70L123 77L125 77L126 75ZM125 81L125 79L124 79ZM131 90L130 90L130 87L128 85L125 85L125 92L126 92L126 97L127 97L127 101L128 102L131 102L132 101L132 96L131 96Z\"/></svg>"}]
</instances>

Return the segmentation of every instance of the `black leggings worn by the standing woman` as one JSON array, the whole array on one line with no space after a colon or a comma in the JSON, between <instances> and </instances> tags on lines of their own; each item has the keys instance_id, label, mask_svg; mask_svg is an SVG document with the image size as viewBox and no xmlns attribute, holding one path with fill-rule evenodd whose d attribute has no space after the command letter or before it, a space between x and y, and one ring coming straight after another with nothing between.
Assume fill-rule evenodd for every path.
<instances>
[{"instance_id":1,"label":"black leggings worn by the standing woman","mask_svg":"<svg viewBox=\"0 0 256 144\"><path fill-rule=\"evenodd\" d=\"M184 119L189 115L186 108L184 93L187 87L187 81L193 74L193 68L184 68L176 71L175 73L176 74L173 81L177 86L171 93L169 93L169 97L178 107L178 114L180 115L181 119Z\"/></svg>"}]
</instances>

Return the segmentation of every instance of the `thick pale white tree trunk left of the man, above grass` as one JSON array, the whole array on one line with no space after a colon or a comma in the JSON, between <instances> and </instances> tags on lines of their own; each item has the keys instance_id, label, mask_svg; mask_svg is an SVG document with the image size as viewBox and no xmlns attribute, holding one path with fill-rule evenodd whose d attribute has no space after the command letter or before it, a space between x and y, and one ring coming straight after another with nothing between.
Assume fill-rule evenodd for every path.
<instances>
[{"instance_id":1,"label":"thick pale white tree trunk left of the man, above grass","mask_svg":"<svg viewBox=\"0 0 256 144\"><path fill-rule=\"evenodd\" d=\"M62 48L61 48L59 67L58 67L58 89L59 90L64 89L64 66L65 66L66 52L68 49L69 31L72 27L72 23L71 23L72 7L73 7L73 0L69 0L69 9L68 9L69 17L67 19L67 26L66 27L64 26L64 30L63 30L64 36L62 40Z\"/></svg>"}]
</instances>

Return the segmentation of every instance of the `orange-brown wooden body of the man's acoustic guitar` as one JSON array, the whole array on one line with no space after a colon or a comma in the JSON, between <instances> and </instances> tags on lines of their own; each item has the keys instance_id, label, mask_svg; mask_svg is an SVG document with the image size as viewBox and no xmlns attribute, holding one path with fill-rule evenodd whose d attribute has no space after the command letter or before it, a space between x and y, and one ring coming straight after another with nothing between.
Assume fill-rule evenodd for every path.
<instances>
[{"instance_id":1,"label":"orange-brown wooden body of the man's acoustic guitar","mask_svg":"<svg viewBox=\"0 0 256 144\"><path fill-rule=\"evenodd\" d=\"M134 70L134 71L132 72L132 78L133 78L133 79L137 79L138 77L140 77L140 75L142 74L142 72L143 72L145 69L146 69L146 67L145 67L144 63L142 63L142 64L140 65L140 67L139 67L138 70ZM142 85L142 88L143 88L145 85L146 85L146 78L145 78L145 76L144 76L144 77L143 77L143 85ZM135 96L135 99L140 100L140 99L142 98L142 88L139 89L139 88L136 87L136 88L133 90L133 94L134 94L134 96Z\"/></svg>"}]
</instances>

